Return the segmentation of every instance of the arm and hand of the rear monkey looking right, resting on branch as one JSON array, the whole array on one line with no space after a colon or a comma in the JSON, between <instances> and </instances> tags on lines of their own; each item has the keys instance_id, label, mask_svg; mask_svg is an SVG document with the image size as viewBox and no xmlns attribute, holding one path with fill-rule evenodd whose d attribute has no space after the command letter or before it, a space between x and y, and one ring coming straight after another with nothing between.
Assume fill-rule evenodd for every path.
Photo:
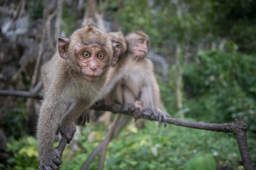
<instances>
[{"instance_id":1,"label":"arm and hand of the rear monkey looking right, resting on branch","mask_svg":"<svg viewBox=\"0 0 256 170\"><path fill-rule=\"evenodd\" d=\"M166 127L167 117L171 116L160 110L160 90L156 81L156 77L154 76L153 64L149 59L146 59L146 66L148 73L145 74L145 87L141 89L141 101L145 107L142 112L148 116L154 114L156 117L158 117L159 126L161 126L163 119L164 127ZM151 108L153 113L149 108Z\"/></svg>"}]
</instances>

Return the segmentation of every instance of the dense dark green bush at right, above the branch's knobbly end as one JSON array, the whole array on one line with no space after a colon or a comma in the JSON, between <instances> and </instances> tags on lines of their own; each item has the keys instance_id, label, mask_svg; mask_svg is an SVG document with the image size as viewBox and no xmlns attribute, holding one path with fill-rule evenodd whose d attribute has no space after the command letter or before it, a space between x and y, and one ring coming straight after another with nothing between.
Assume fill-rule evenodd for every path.
<instances>
[{"instance_id":1,"label":"dense dark green bush at right, above the branch's knobbly end","mask_svg":"<svg viewBox=\"0 0 256 170\"><path fill-rule=\"evenodd\" d=\"M256 130L256 58L235 51L200 51L201 65L191 63L184 71L184 83L192 96L184 106L188 117L214 123L243 120Z\"/></svg>"}]
</instances>

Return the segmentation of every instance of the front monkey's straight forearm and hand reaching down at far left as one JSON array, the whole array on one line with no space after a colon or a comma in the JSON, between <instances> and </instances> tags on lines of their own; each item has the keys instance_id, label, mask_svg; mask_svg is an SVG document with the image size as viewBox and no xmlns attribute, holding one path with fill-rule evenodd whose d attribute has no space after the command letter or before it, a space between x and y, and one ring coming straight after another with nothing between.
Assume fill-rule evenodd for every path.
<instances>
[{"instance_id":1,"label":"front monkey's straight forearm and hand reaching down at far left","mask_svg":"<svg viewBox=\"0 0 256 170\"><path fill-rule=\"evenodd\" d=\"M37 147L39 150L40 170L59 170L61 152L54 149L53 139L64 106L55 98L45 97L37 124Z\"/></svg>"}]
</instances>

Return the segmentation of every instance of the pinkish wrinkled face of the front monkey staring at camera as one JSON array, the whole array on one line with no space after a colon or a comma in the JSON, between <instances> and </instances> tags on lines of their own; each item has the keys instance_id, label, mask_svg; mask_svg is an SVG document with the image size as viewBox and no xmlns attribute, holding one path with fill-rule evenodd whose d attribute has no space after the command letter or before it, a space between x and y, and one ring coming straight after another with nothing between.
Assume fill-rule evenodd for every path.
<instances>
[{"instance_id":1,"label":"pinkish wrinkled face of the front monkey staring at camera","mask_svg":"<svg viewBox=\"0 0 256 170\"><path fill-rule=\"evenodd\" d=\"M109 60L108 52L99 45L93 44L83 48L79 48L78 45L76 54L79 56L79 65L85 79L91 82L98 80Z\"/></svg>"}]
</instances>

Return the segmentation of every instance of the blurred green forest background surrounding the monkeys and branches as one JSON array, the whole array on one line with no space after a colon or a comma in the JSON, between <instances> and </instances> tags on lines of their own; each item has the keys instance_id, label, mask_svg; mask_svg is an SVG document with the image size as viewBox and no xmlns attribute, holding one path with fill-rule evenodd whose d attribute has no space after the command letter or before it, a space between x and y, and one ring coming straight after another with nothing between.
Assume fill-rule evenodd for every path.
<instances>
[{"instance_id":1,"label":"blurred green forest background surrounding the monkeys and branches","mask_svg":"<svg viewBox=\"0 0 256 170\"><path fill-rule=\"evenodd\" d=\"M249 125L247 140L256 165L256 1L52 0L46 20L47 5L47 0L0 1L0 90L34 87L40 79L36 65L53 55L58 36L68 37L85 21L125 35L144 30L151 39L147 57L154 63L162 109L193 122L231 123L241 116ZM0 169L39 166L35 126L40 103L0 96ZM63 153L62 170L80 169L104 139L109 122L100 118L77 126ZM89 169L97 169L98 161ZM138 120L110 142L104 169L244 167L233 134L159 128L158 122Z\"/></svg>"}]
</instances>

